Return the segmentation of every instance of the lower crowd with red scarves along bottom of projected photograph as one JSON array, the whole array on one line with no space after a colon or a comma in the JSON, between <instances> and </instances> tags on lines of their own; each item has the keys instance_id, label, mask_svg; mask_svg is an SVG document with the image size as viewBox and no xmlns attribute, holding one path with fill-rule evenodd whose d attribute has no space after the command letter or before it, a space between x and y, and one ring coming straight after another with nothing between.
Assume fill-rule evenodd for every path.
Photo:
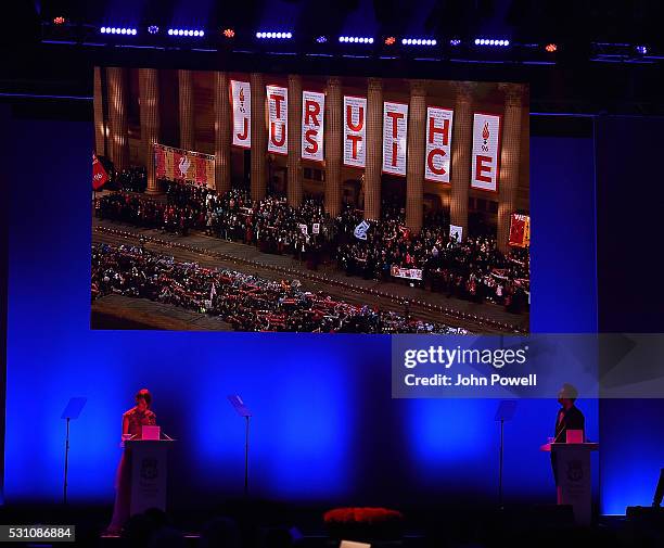
<instances>
[{"instance_id":1,"label":"lower crowd with red scarves along bottom of projected photograph","mask_svg":"<svg viewBox=\"0 0 664 548\"><path fill-rule=\"evenodd\" d=\"M312 293L297 280L203 268L133 246L93 245L91 288L93 301L112 293L148 298L217 316L238 331L465 333Z\"/></svg>"}]
</instances>

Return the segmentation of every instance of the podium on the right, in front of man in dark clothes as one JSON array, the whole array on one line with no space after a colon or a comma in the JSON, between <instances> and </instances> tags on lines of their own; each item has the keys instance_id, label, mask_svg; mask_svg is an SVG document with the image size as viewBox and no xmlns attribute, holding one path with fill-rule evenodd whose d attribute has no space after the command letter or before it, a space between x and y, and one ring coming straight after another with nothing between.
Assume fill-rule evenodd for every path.
<instances>
[{"instance_id":1,"label":"podium on the right, in front of man in dark clothes","mask_svg":"<svg viewBox=\"0 0 664 548\"><path fill-rule=\"evenodd\" d=\"M572 506L577 525L590 525L592 521L590 453L598 450L599 444L547 444L541 449L556 455L558 504Z\"/></svg>"}]
</instances>

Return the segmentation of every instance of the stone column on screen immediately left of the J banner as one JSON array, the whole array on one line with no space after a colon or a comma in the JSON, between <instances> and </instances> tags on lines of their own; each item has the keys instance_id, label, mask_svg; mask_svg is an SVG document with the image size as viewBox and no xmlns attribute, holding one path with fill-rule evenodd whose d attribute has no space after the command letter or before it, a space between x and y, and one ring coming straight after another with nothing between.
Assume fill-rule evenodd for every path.
<instances>
[{"instance_id":1,"label":"stone column on screen immediately left of the J banner","mask_svg":"<svg viewBox=\"0 0 664 548\"><path fill-rule=\"evenodd\" d=\"M217 194L231 189L231 112L227 73L215 73L215 187Z\"/></svg>"}]
</instances>

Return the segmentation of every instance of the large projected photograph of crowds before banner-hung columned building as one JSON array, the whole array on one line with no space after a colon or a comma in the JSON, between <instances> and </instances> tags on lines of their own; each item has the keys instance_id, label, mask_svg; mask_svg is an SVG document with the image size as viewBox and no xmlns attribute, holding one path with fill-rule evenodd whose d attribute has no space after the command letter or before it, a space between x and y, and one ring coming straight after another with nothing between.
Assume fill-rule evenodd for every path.
<instances>
[{"instance_id":1,"label":"large projected photograph of crowds before banner-hung columned building","mask_svg":"<svg viewBox=\"0 0 664 548\"><path fill-rule=\"evenodd\" d=\"M94 69L91 327L529 329L528 89Z\"/></svg>"}]
</instances>

